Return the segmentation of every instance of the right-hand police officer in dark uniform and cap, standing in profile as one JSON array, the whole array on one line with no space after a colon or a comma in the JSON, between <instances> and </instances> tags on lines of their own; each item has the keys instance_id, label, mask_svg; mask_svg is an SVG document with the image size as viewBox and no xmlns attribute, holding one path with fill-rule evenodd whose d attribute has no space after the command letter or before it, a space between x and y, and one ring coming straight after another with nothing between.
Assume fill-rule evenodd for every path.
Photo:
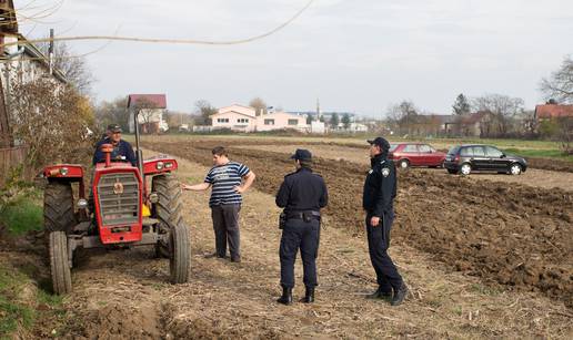
<instances>
[{"instance_id":1,"label":"right-hand police officer in dark uniform and cap, standing in profile","mask_svg":"<svg viewBox=\"0 0 573 340\"><path fill-rule=\"evenodd\" d=\"M366 233L370 260L376 272L379 288L372 299L392 299L392 306L404 301L408 287L388 255L390 229L394 219L393 200L396 196L396 169L388 159L390 144L383 137L368 141L372 168L364 182L362 206L366 212Z\"/></svg>"}]
</instances>

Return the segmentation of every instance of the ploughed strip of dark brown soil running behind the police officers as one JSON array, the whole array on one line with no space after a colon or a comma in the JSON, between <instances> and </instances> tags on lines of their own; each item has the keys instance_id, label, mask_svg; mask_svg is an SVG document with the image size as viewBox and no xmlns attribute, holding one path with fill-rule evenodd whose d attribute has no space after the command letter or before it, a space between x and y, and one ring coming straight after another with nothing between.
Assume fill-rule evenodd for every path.
<instances>
[{"instance_id":1,"label":"ploughed strip of dark brown soil running behind the police officers","mask_svg":"<svg viewBox=\"0 0 573 340\"><path fill-rule=\"evenodd\" d=\"M145 145L209 165L215 143ZM268 194L275 194L282 176L292 171L292 162L282 153L232 148L231 154L254 171L257 189ZM368 168L319 158L315 169L329 186L329 220L358 234ZM484 282L542 291L573 306L571 192L434 176L424 171L400 173L399 181L395 238Z\"/></svg>"}]
</instances>

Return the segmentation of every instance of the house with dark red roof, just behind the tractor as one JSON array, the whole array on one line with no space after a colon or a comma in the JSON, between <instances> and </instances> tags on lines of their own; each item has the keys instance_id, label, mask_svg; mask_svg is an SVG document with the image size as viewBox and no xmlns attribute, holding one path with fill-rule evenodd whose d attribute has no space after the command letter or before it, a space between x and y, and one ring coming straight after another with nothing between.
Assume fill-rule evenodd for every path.
<instances>
[{"instance_id":1,"label":"house with dark red roof, just behind the tractor","mask_svg":"<svg viewBox=\"0 0 573 340\"><path fill-rule=\"evenodd\" d=\"M130 94L128 95L129 132L135 132L134 114L138 112L138 123L142 133L160 133L169 130L164 120L167 97L164 94Z\"/></svg>"}]
</instances>

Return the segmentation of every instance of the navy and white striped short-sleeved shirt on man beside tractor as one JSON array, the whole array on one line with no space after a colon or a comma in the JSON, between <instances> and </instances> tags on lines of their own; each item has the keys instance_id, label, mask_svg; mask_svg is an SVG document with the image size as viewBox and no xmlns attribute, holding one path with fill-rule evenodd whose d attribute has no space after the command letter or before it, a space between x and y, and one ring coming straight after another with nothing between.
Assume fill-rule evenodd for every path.
<instances>
[{"instance_id":1,"label":"navy and white striped short-sleeved shirt on man beside tractor","mask_svg":"<svg viewBox=\"0 0 573 340\"><path fill-rule=\"evenodd\" d=\"M209 206L241 204L243 197L233 187L241 185L242 177L247 176L249 172L249 167L237 162L213 166L204 181L212 185Z\"/></svg>"}]
</instances>

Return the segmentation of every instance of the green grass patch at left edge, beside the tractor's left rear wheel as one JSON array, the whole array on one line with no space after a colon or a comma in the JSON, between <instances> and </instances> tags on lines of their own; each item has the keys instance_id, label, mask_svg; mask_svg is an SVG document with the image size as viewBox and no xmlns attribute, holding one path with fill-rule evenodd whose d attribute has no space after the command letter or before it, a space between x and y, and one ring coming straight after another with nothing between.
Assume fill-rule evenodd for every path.
<instances>
[{"instance_id":1,"label":"green grass patch at left edge, beside the tractor's left rear wheel","mask_svg":"<svg viewBox=\"0 0 573 340\"><path fill-rule=\"evenodd\" d=\"M13 236L41 230L43 210L38 193L19 194L0 208L0 221Z\"/></svg>"}]
</instances>

